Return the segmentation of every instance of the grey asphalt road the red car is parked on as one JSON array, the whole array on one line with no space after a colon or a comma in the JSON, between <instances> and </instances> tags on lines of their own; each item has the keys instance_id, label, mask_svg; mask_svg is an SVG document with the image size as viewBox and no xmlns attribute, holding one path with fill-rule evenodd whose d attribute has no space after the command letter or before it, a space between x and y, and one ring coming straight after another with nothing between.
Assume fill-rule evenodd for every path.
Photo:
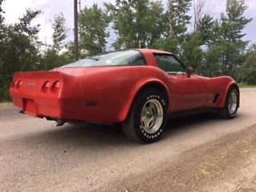
<instances>
[{"instance_id":1,"label":"grey asphalt road the red car is parked on","mask_svg":"<svg viewBox=\"0 0 256 192\"><path fill-rule=\"evenodd\" d=\"M98 191L148 172L185 151L256 124L256 89L241 90L237 118L170 120L162 140L130 141L119 126L51 126L0 106L0 191ZM150 182L150 181L149 181Z\"/></svg>"}]
</instances>

